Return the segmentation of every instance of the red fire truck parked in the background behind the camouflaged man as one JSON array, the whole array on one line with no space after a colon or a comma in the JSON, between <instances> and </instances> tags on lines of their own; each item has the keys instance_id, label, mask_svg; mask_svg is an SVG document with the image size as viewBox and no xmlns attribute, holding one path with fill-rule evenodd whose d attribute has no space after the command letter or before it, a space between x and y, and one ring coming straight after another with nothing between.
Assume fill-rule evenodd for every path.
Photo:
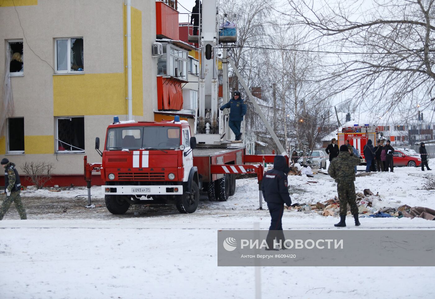
<instances>
[{"instance_id":1,"label":"red fire truck parked in the background behind the camouflaged man","mask_svg":"<svg viewBox=\"0 0 435 299\"><path fill-rule=\"evenodd\" d=\"M373 128L368 124L365 124L364 126L359 126L358 124L353 126L344 126L341 128L341 131L338 129L337 135L338 147L340 147L342 144L345 144L345 140L348 140L351 145L358 149L363 164L365 163L363 151L367 141L370 139L373 143L373 146L376 146L376 140L378 140L378 132L376 128Z\"/></svg>"}]
</instances>

